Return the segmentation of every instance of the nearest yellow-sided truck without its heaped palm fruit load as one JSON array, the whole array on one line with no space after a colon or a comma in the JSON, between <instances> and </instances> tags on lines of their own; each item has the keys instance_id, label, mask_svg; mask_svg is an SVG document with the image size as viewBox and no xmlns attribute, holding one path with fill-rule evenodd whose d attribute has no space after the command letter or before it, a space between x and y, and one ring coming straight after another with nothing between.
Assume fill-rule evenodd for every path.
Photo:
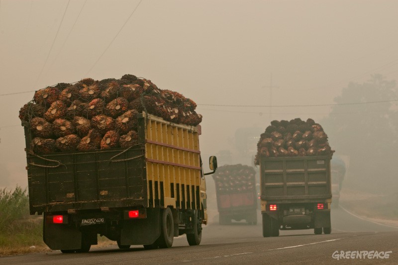
<instances>
[{"instance_id":1,"label":"nearest yellow-sided truck without its heaped palm fruit load","mask_svg":"<svg viewBox=\"0 0 398 265\"><path fill-rule=\"evenodd\" d=\"M38 155L25 132L30 214L43 214L43 240L63 253L88 252L98 235L120 249L170 248L186 234L199 245L207 224L200 125L138 115L139 144ZM215 157L209 168L217 168ZM212 172L212 173L213 173Z\"/></svg>"}]
</instances>

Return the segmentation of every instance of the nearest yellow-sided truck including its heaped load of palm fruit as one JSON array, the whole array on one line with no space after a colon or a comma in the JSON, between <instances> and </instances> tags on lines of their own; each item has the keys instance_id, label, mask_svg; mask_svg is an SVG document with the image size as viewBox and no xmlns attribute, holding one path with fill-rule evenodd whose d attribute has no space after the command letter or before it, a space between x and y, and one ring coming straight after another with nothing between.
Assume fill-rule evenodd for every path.
<instances>
[{"instance_id":1,"label":"nearest yellow-sided truck including its heaped load of palm fruit","mask_svg":"<svg viewBox=\"0 0 398 265\"><path fill-rule=\"evenodd\" d=\"M19 118L30 214L44 215L50 249L88 252L98 234L121 249L170 248L183 234L199 245L206 174L195 108L133 75L37 90Z\"/></svg>"}]
</instances>

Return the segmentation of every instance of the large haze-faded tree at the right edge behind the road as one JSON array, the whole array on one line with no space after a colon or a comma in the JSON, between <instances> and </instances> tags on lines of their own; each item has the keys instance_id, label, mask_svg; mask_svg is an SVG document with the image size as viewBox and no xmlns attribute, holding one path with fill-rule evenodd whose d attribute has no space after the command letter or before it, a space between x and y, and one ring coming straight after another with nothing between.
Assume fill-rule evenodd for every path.
<instances>
[{"instance_id":1,"label":"large haze-faded tree at the right edge behind the road","mask_svg":"<svg viewBox=\"0 0 398 265\"><path fill-rule=\"evenodd\" d=\"M322 121L336 154L350 157L345 183L353 188L382 193L398 185L397 102L365 103L398 99L397 84L381 75L363 83L350 83L334 99ZM365 104L347 104L364 102Z\"/></svg>"}]
</instances>

